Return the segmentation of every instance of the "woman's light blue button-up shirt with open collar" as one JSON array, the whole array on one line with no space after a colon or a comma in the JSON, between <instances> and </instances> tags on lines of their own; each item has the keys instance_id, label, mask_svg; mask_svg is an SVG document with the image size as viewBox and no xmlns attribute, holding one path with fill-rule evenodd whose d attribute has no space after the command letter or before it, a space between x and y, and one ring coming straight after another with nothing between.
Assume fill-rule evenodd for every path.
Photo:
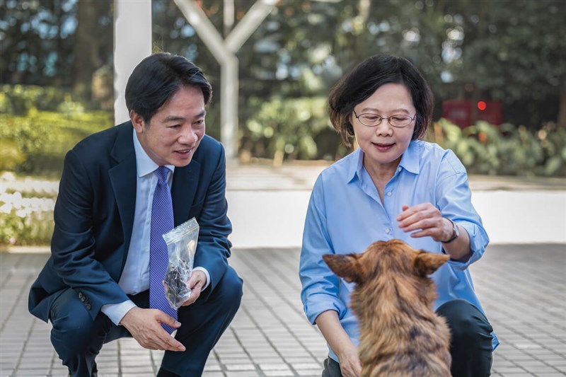
<instances>
[{"instance_id":1,"label":"woman's light blue button-up shirt with open collar","mask_svg":"<svg viewBox=\"0 0 566 377\"><path fill-rule=\"evenodd\" d=\"M454 152L426 141L411 141L385 187L383 203L363 160L364 153L357 149L323 170L313 187L299 267L301 301L308 320L315 323L320 313L337 311L342 327L358 344L357 318L349 308L353 284L338 278L322 255L362 253L376 240L393 238L416 249L443 253L441 243L431 237L411 238L395 220L404 204L412 207L425 202L466 229L472 250L468 261L449 260L432 274L438 292L434 309L446 301L463 298L483 311L468 266L480 259L489 238L471 203L466 168ZM495 349L499 342L492 335ZM328 349L330 357L338 361Z\"/></svg>"}]
</instances>

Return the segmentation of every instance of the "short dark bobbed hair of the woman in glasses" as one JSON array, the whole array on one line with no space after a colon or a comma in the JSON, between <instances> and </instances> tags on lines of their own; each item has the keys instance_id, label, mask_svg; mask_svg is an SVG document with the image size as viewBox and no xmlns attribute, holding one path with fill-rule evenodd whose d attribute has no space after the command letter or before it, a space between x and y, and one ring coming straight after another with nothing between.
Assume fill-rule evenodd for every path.
<instances>
[{"instance_id":1,"label":"short dark bobbed hair of the woman in glasses","mask_svg":"<svg viewBox=\"0 0 566 377\"><path fill-rule=\"evenodd\" d=\"M350 139L354 137L354 129L350 123L354 107L386 83L403 84L411 94L412 104L417 110L412 140L418 139L427 131L434 110L434 96L427 81L407 59L393 55L376 55L358 64L330 90L330 121L345 145L352 145Z\"/></svg>"}]
</instances>

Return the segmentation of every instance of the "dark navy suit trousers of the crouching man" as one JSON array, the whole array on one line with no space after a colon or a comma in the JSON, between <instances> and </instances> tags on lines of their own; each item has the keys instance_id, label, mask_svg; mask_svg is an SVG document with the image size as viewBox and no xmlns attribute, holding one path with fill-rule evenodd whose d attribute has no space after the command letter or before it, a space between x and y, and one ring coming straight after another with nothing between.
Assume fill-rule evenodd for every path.
<instances>
[{"instance_id":1,"label":"dark navy suit trousers of the crouching man","mask_svg":"<svg viewBox=\"0 0 566 377\"><path fill-rule=\"evenodd\" d=\"M203 291L204 294L204 291ZM149 292L131 296L140 308L149 307ZM184 352L166 351L159 376L200 376L214 344L238 311L242 298L242 280L231 267L206 300L201 296L178 311L175 339ZM73 289L67 289L53 303L51 342L72 376L91 376L95 358L103 344L120 337L132 337L123 326L116 326L103 313L92 320Z\"/></svg>"}]
</instances>

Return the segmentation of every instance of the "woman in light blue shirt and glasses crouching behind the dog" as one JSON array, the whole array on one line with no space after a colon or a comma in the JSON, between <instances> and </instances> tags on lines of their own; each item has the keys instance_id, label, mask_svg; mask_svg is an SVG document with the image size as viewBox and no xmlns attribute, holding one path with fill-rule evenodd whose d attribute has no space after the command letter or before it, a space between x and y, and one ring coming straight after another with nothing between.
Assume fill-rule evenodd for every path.
<instances>
[{"instance_id":1,"label":"woman in light blue shirt and glasses crouching behind the dog","mask_svg":"<svg viewBox=\"0 0 566 377\"><path fill-rule=\"evenodd\" d=\"M330 92L342 141L359 148L320 173L308 204L299 274L301 300L328 342L323 376L359 376L352 285L322 255L362 253L398 238L449 262L432 275L434 308L451 330L453 376L489 376L497 337L473 289L468 266L489 238L471 204L466 169L450 150L419 138L432 120L432 91L407 59L370 57Z\"/></svg>"}]
</instances>

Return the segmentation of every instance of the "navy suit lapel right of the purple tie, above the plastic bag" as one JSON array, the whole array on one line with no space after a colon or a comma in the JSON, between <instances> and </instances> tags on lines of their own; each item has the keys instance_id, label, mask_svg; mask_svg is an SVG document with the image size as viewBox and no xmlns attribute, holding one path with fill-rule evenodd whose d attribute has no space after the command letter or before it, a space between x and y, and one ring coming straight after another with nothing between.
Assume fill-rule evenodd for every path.
<instances>
[{"instance_id":1,"label":"navy suit lapel right of the purple tie, above the plastic bag","mask_svg":"<svg viewBox=\"0 0 566 377\"><path fill-rule=\"evenodd\" d=\"M175 168L173 184L171 185L175 226L183 224L183 222L188 220L187 216L197 192L199 174L200 163L194 159L188 166Z\"/></svg>"}]
</instances>

